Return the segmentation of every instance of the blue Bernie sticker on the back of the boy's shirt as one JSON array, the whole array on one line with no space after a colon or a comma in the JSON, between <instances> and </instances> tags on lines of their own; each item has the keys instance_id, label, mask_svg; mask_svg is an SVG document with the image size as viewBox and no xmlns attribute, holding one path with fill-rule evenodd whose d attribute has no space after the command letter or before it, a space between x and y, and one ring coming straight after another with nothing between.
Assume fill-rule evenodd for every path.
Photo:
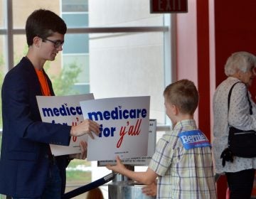
<instances>
[{"instance_id":1,"label":"blue Bernie sticker on the back of the boy's shirt","mask_svg":"<svg viewBox=\"0 0 256 199\"><path fill-rule=\"evenodd\" d=\"M183 131L178 137L186 150L210 146L210 142L200 130Z\"/></svg>"}]
</instances>

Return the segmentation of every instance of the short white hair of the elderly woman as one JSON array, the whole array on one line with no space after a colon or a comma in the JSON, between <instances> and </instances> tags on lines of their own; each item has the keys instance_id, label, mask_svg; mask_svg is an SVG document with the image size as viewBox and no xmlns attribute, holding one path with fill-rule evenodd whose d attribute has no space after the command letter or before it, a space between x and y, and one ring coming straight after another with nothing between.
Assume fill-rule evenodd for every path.
<instances>
[{"instance_id":1,"label":"short white hair of the elderly woman","mask_svg":"<svg viewBox=\"0 0 256 199\"><path fill-rule=\"evenodd\" d=\"M247 72L256 66L256 57L245 51L233 53L225 63L225 75L233 75L238 70Z\"/></svg>"}]
</instances>

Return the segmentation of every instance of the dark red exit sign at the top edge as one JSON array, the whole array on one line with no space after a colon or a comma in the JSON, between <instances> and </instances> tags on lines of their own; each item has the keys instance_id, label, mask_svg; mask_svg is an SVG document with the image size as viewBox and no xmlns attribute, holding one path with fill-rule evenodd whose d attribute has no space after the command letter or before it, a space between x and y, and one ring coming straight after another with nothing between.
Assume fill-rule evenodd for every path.
<instances>
[{"instance_id":1,"label":"dark red exit sign at the top edge","mask_svg":"<svg viewBox=\"0 0 256 199\"><path fill-rule=\"evenodd\" d=\"M151 13L186 13L188 0L151 0Z\"/></svg>"}]
</instances>

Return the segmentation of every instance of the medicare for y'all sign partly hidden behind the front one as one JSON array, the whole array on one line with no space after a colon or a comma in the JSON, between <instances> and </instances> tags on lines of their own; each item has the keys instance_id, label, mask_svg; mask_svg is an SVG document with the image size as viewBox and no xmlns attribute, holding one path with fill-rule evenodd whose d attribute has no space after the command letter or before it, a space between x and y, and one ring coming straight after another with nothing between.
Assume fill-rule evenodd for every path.
<instances>
[{"instance_id":1,"label":"medicare for y'all sign partly hidden behind the front one","mask_svg":"<svg viewBox=\"0 0 256 199\"><path fill-rule=\"evenodd\" d=\"M36 96L43 122L76 126L84 119L80 101L94 99L93 94L69 96ZM71 136L69 146L50 144L55 156L80 153L80 141L87 141L87 135Z\"/></svg>"}]
</instances>

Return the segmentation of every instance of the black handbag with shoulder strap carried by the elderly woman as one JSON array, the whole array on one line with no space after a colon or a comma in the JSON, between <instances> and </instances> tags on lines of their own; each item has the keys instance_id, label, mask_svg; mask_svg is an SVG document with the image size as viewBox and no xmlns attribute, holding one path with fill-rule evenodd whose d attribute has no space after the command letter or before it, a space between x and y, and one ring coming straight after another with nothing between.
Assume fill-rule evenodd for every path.
<instances>
[{"instance_id":1,"label":"black handbag with shoulder strap carried by the elderly woman","mask_svg":"<svg viewBox=\"0 0 256 199\"><path fill-rule=\"evenodd\" d=\"M228 111L230 106L230 96L233 87L239 82L236 82L228 93ZM247 92L247 100L250 105L250 114L252 114L252 104L249 99ZM229 125L229 124L228 124ZM231 127L229 125L228 133L228 148L224 149L220 158L223 158L223 166L225 166L225 161L233 162L233 156L238 156L242 158L253 158L256 157L256 131L249 130L244 131Z\"/></svg>"}]
</instances>

